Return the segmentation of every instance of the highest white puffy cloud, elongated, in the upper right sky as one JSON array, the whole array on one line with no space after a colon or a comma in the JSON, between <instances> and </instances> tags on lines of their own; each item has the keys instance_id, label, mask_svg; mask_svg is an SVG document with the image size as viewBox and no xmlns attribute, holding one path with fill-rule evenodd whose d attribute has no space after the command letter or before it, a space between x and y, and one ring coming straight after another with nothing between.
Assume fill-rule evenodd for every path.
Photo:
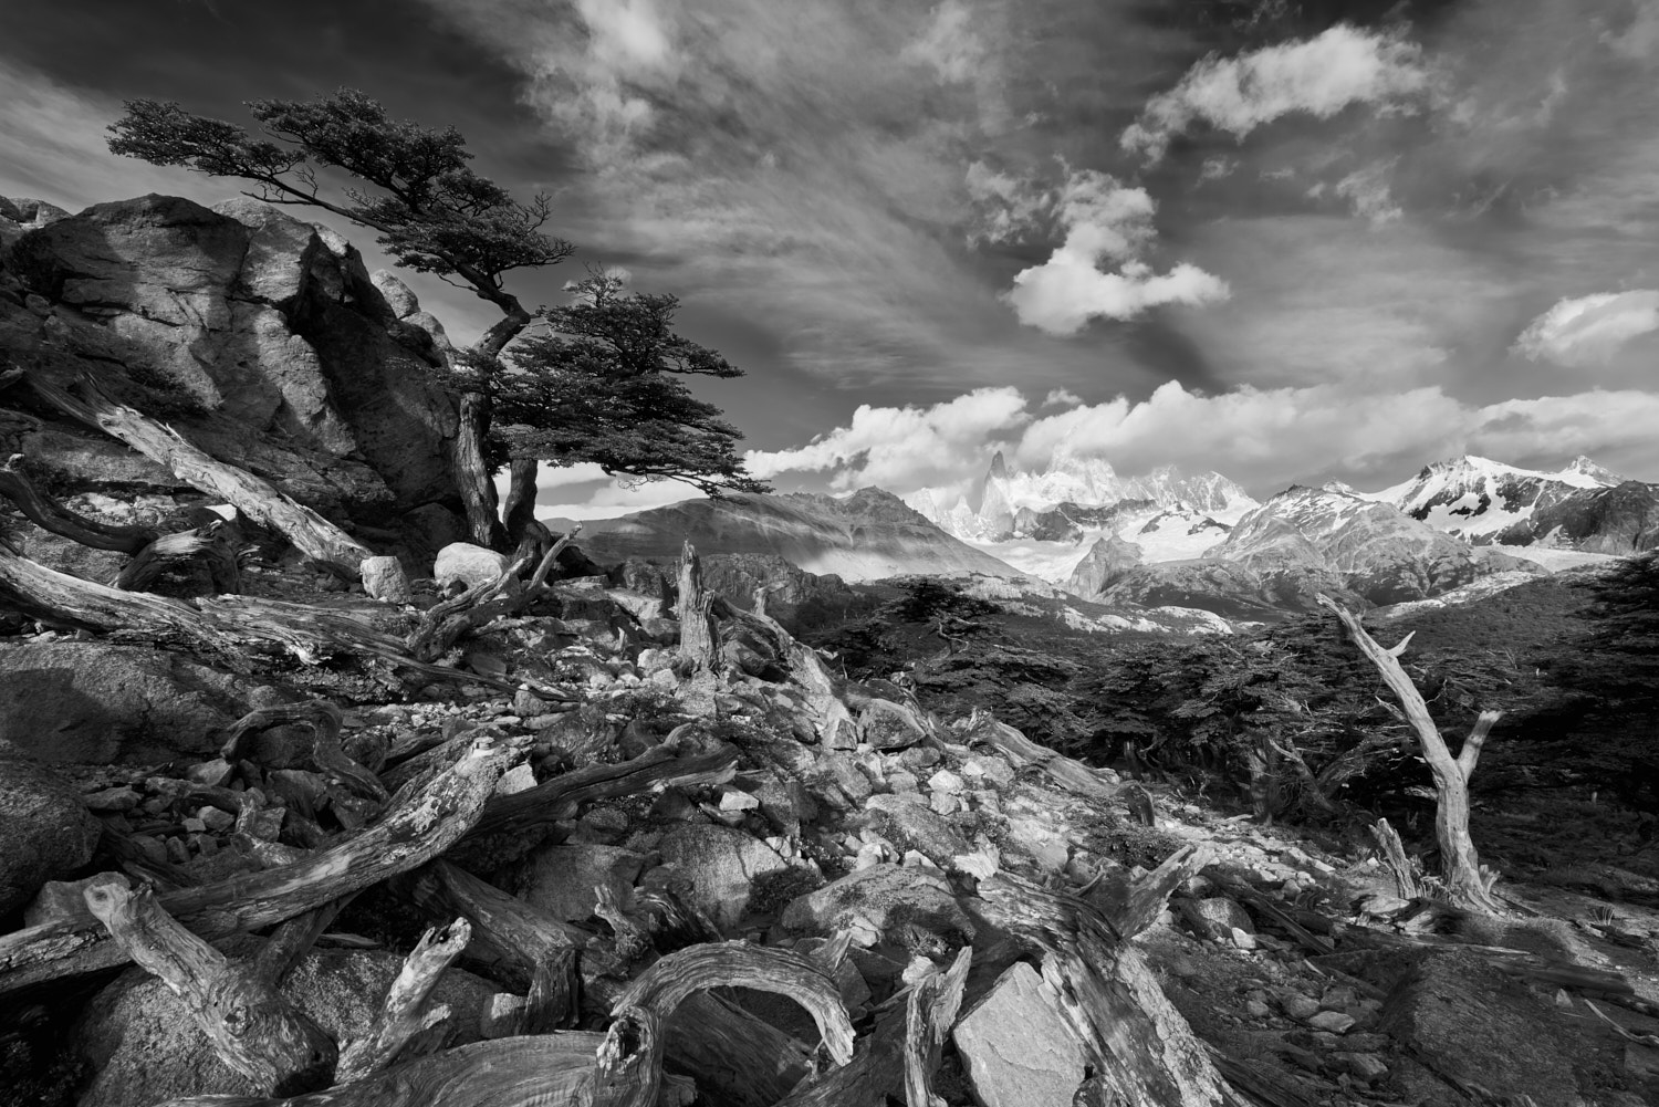
<instances>
[{"instance_id":1,"label":"highest white puffy cloud, elongated, in the upper right sky","mask_svg":"<svg viewBox=\"0 0 1659 1107\"><path fill-rule=\"evenodd\" d=\"M1153 96L1120 143L1148 161L1194 123L1244 138L1291 113L1329 119L1360 103L1400 106L1430 90L1422 48L1387 32L1340 23L1306 41L1236 58L1209 55L1166 93Z\"/></svg>"}]
</instances>

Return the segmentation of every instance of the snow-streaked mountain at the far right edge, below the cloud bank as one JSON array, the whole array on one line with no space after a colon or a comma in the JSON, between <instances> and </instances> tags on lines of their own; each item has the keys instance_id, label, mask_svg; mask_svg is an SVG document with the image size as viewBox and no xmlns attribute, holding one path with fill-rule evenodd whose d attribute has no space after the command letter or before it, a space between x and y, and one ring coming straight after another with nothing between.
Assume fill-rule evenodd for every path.
<instances>
[{"instance_id":1,"label":"snow-streaked mountain at the far right edge, below the cloud bank","mask_svg":"<svg viewBox=\"0 0 1659 1107\"><path fill-rule=\"evenodd\" d=\"M1629 554L1659 544L1659 485L1626 480L1586 456L1554 473L1462 456L1360 495L1478 546Z\"/></svg>"}]
</instances>

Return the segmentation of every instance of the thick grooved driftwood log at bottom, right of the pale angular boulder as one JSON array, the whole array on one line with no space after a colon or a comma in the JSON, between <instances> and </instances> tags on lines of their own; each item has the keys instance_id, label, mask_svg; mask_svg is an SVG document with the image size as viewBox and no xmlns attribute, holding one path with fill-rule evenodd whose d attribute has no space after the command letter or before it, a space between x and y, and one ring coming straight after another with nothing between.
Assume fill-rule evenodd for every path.
<instances>
[{"instance_id":1,"label":"thick grooved driftwood log at bottom, right of the pale angular boulder","mask_svg":"<svg viewBox=\"0 0 1659 1107\"><path fill-rule=\"evenodd\" d=\"M979 893L984 903L975 906L987 919L1044 951L1044 981L1088 1054L1107 1102L1239 1102L1140 953L1118 939L1100 911L1007 873L980 881Z\"/></svg>"}]
</instances>

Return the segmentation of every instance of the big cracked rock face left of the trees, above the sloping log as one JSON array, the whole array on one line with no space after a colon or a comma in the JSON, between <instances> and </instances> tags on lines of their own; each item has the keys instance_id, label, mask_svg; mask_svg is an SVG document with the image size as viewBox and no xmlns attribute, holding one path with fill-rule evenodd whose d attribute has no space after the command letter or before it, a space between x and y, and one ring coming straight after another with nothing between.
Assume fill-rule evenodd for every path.
<instances>
[{"instance_id":1,"label":"big cracked rock face left of the trees, above the sloping log","mask_svg":"<svg viewBox=\"0 0 1659 1107\"><path fill-rule=\"evenodd\" d=\"M433 377L443 352L338 236L254 199L141 196L33 226L7 266L50 304L55 345L85 362L63 368L106 375L114 362L187 397L221 423L211 450L241 436L249 455L260 443L322 455L324 468L367 463L385 506L405 511L453 495L456 415ZM255 468L280 480L272 461Z\"/></svg>"}]
</instances>

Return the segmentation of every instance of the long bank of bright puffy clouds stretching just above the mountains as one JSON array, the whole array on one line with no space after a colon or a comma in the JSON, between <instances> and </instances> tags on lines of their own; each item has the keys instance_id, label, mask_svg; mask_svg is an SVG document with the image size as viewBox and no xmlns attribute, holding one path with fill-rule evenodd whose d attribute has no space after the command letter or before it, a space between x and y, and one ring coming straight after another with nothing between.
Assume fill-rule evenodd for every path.
<instances>
[{"instance_id":1,"label":"long bank of bright puffy clouds stretching just above the mountains","mask_svg":"<svg viewBox=\"0 0 1659 1107\"><path fill-rule=\"evenodd\" d=\"M1380 488L1425 461L1470 451L1543 466L1588 453L1642 470L1654 465L1656 422L1659 395L1634 390L1480 405L1438 385L1244 387L1204 395L1170 382L1143 400L1118 397L1039 415L1019 392L1000 388L931 408L864 407L849 427L816 443L752 453L748 461L766 476L823 471L836 488L878 483L904 495L934 486L949 500L984 471L989 450L1002 448L1032 471L1058 453L1103 456L1120 473L1214 468L1269 495L1329 476Z\"/></svg>"}]
</instances>

